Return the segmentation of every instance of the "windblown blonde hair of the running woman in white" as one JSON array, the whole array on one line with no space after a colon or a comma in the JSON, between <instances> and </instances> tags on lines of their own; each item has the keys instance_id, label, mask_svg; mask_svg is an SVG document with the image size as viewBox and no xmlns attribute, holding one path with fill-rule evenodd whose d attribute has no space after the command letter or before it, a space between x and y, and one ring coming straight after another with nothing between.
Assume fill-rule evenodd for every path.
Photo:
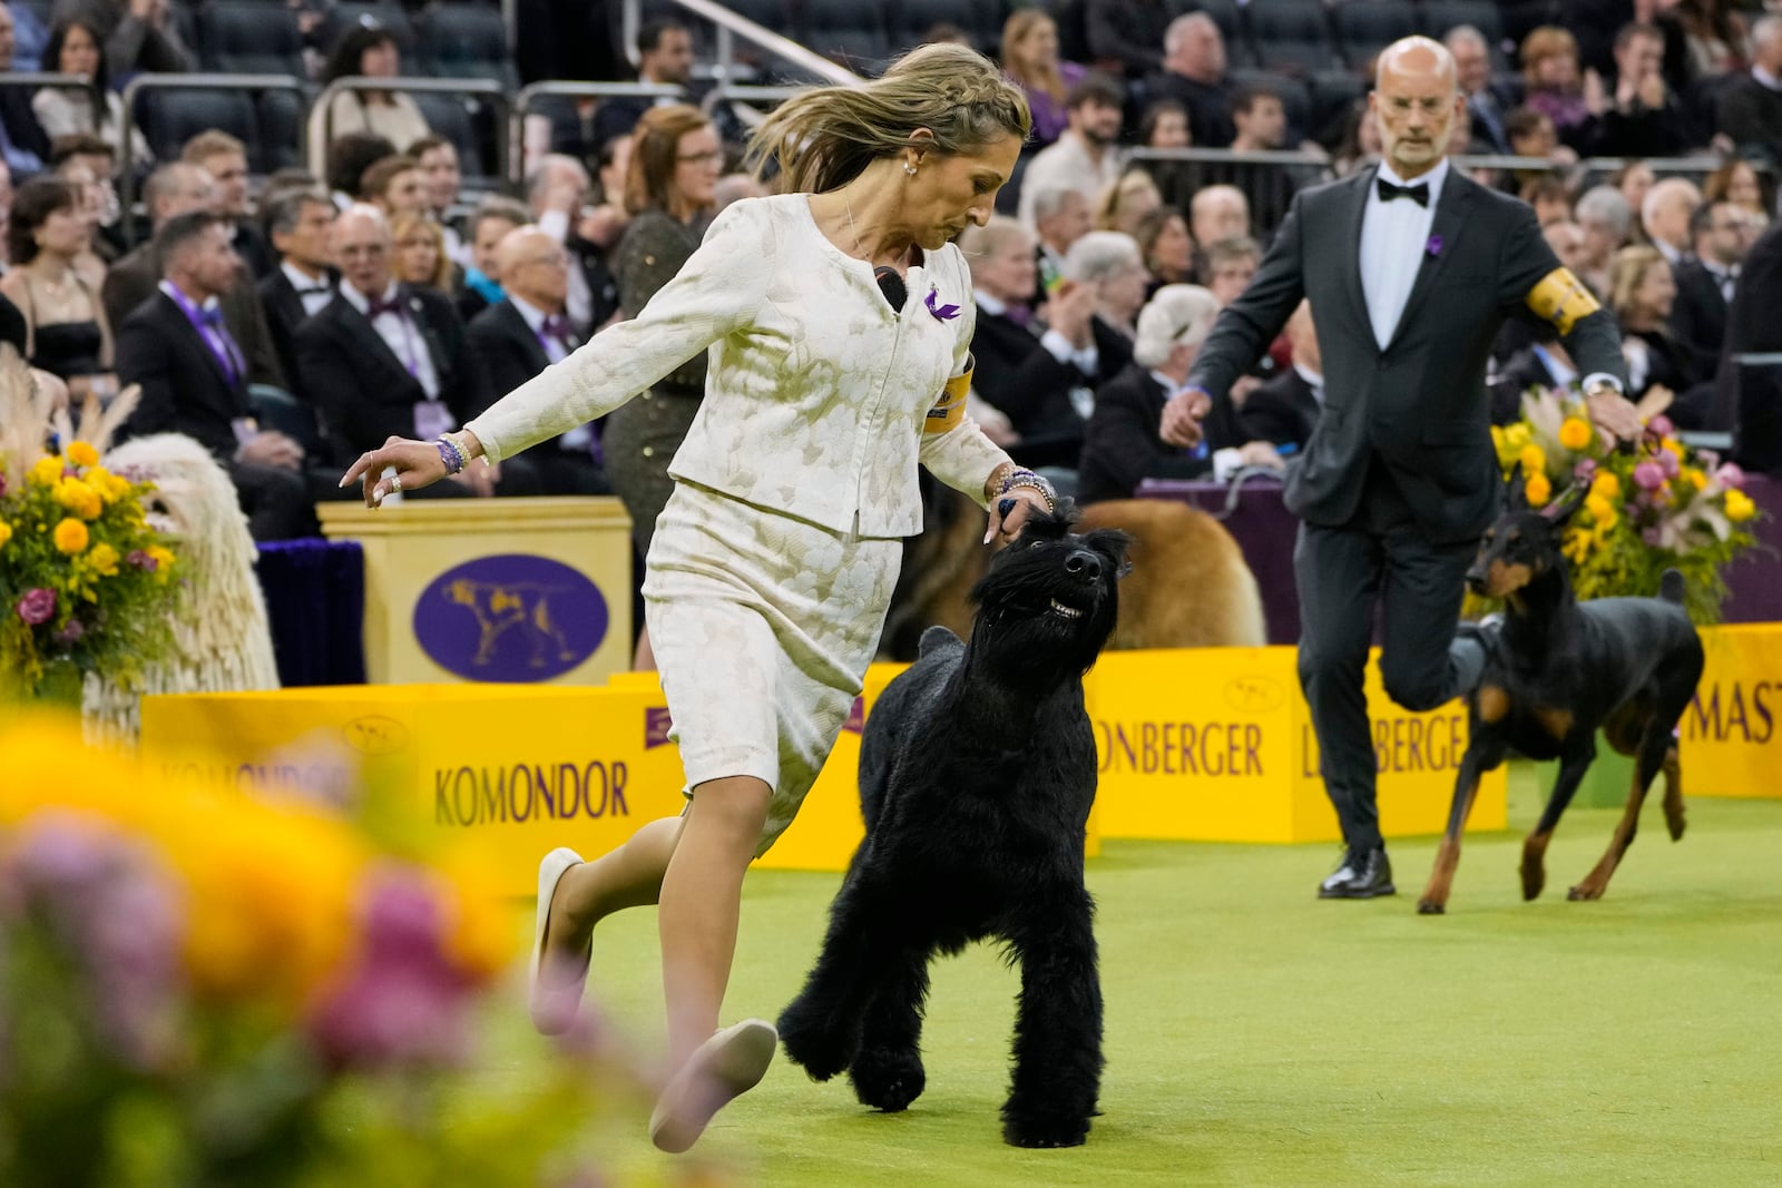
<instances>
[{"instance_id":1,"label":"windblown blonde hair of the running woman in white","mask_svg":"<svg viewBox=\"0 0 1782 1188\"><path fill-rule=\"evenodd\" d=\"M748 157L757 167L779 164L782 192L822 194L905 148L962 157L1009 135L1025 141L1032 123L1026 96L987 57L962 45L925 45L864 85L786 100L756 128ZM934 139L912 139L918 128Z\"/></svg>"}]
</instances>

